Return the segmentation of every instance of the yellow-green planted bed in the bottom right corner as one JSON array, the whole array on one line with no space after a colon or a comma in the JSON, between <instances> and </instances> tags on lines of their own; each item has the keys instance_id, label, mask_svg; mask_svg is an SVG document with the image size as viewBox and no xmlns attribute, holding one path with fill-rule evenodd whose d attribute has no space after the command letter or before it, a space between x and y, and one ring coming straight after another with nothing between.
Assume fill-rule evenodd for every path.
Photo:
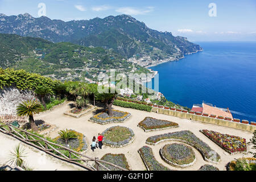
<instances>
[{"instance_id":1,"label":"yellow-green planted bed in the bottom right corner","mask_svg":"<svg viewBox=\"0 0 256 182\"><path fill-rule=\"evenodd\" d=\"M228 171L256 171L256 158L232 160L228 163L227 169Z\"/></svg>"}]
</instances>

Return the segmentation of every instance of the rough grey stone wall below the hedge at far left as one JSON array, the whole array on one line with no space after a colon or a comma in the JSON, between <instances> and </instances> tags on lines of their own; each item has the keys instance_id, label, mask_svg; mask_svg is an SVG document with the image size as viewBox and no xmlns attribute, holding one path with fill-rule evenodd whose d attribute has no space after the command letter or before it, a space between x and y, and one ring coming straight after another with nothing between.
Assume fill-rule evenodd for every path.
<instances>
[{"instance_id":1,"label":"rough grey stone wall below the hedge at far left","mask_svg":"<svg viewBox=\"0 0 256 182\"><path fill-rule=\"evenodd\" d=\"M16 106L22 101L35 98L32 91L20 90L15 86L0 90L0 114L16 114Z\"/></svg>"}]
</instances>

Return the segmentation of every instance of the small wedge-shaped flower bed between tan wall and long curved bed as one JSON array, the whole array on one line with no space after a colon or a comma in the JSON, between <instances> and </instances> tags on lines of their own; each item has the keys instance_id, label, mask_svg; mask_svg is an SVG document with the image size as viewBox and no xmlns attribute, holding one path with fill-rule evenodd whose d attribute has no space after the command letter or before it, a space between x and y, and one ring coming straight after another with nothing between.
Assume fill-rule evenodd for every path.
<instances>
[{"instance_id":1,"label":"small wedge-shaped flower bed between tan wall and long curved bed","mask_svg":"<svg viewBox=\"0 0 256 182\"><path fill-rule=\"evenodd\" d=\"M169 129L171 127L178 127L179 125L171 121L146 117L143 119L143 121L139 123L138 126L147 132L147 131L155 131L160 129Z\"/></svg>"}]
</instances>

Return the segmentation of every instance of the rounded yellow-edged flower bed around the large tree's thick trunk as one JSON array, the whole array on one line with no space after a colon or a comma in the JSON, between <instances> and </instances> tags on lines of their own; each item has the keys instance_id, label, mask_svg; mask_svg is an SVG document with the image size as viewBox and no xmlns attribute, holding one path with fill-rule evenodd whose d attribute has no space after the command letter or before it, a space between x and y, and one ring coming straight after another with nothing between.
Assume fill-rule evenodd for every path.
<instances>
[{"instance_id":1,"label":"rounded yellow-edged flower bed around the large tree's thick trunk","mask_svg":"<svg viewBox=\"0 0 256 182\"><path fill-rule=\"evenodd\" d=\"M96 115L94 115L92 118L90 118L90 120L92 120L93 122L97 122L100 124L107 124L110 122L123 122L125 121L127 118L130 117L130 113L127 112L123 112L123 111L119 111L119 110L113 110L113 116L110 117L108 115L108 113L102 112L102 113L98 113Z\"/></svg>"}]
</instances>

